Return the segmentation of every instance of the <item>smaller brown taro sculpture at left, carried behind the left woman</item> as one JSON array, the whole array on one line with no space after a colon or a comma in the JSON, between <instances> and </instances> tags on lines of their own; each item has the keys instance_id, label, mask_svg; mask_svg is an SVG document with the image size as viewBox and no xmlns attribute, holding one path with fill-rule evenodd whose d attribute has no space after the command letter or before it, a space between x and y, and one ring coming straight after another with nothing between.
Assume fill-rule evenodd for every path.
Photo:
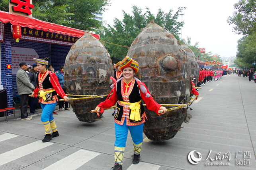
<instances>
[{"instance_id":1,"label":"smaller brown taro sculpture at left, carried behind the left woman","mask_svg":"<svg viewBox=\"0 0 256 170\"><path fill-rule=\"evenodd\" d=\"M112 62L106 48L92 34L85 33L70 49L64 65L64 85L68 94L107 95L113 74ZM72 100L70 104L82 122L94 122L100 117L91 110L104 98Z\"/></svg>"}]
</instances>

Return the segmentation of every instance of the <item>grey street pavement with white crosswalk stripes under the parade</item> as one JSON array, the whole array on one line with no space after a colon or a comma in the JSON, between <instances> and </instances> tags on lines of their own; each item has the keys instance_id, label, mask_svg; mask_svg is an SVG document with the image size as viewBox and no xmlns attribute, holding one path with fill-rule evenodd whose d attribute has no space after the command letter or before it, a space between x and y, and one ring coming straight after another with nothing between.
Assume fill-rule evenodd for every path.
<instances>
[{"instance_id":1,"label":"grey street pavement with white crosswalk stripes under the parade","mask_svg":"<svg viewBox=\"0 0 256 170\"><path fill-rule=\"evenodd\" d=\"M137 165L132 164L133 142L128 135L123 169L255 170L255 101L256 84L248 78L231 74L208 82L199 89L198 99L190 106L193 110L188 109L189 123L183 123L174 138L156 142L143 134ZM41 142L40 114L29 121L10 116L4 122L1 117L0 170L110 170L114 164L113 109L93 123L80 122L72 111L58 113L54 117L60 136L46 143Z\"/></svg>"}]
</instances>

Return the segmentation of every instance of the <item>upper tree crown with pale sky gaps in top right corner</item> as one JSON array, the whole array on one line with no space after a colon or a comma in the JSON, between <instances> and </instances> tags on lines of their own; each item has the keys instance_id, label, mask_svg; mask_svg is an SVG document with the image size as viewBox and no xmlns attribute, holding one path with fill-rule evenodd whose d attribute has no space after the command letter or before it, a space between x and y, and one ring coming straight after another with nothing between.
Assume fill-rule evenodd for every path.
<instances>
[{"instance_id":1,"label":"upper tree crown with pale sky gaps in top right corner","mask_svg":"<svg viewBox=\"0 0 256 170\"><path fill-rule=\"evenodd\" d=\"M229 17L229 25L235 24L234 30L237 34L252 34L256 31L256 1L239 0L234 4L235 12Z\"/></svg>"}]
</instances>

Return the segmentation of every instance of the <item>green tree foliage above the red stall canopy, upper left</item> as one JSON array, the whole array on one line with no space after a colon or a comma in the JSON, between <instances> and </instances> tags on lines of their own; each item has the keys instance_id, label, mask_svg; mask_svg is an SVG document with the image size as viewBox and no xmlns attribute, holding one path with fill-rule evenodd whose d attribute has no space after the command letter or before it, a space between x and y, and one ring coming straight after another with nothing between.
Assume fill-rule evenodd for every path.
<instances>
[{"instance_id":1,"label":"green tree foliage above the red stall canopy, upper left","mask_svg":"<svg viewBox=\"0 0 256 170\"><path fill-rule=\"evenodd\" d=\"M81 30L101 27L95 13L106 10L110 0L33 0L33 17ZM8 0L2 0L0 10L8 12Z\"/></svg>"}]
</instances>

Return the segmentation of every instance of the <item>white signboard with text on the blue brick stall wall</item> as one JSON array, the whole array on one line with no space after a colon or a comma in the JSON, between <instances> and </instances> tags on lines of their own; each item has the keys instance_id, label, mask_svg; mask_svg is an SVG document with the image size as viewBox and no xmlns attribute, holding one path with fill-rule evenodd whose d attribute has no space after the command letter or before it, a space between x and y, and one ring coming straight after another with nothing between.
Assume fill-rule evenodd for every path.
<instances>
[{"instance_id":1,"label":"white signboard with text on the blue brick stall wall","mask_svg":"<svg viewBox=\"0 0 256 170\"><path fill-rule=\"evenodd\" d=\"M39 58L37 52L33 48L12 47L12 74L16 74L20 69L20 62L33 65L35 64L33 58Z\"/></svg>"}]
</instances>

